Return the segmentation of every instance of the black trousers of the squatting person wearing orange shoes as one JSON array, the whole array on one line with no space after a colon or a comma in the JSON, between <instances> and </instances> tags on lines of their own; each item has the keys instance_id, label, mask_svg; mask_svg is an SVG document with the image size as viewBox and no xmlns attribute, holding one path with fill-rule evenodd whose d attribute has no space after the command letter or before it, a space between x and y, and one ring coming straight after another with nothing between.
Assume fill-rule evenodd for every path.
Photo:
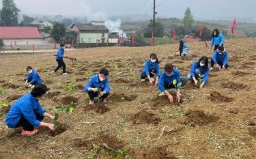
<instances>
[{"instance_id":1,"label":"black trousers of the squatting person wearing orange shoes","mask_svg":"<svg viewBox=\"0 0 256 159\"><path fill-rule=\"evenodd\" d=\"M35 117L37 120L42 121L44 119L44 116L40 115L38 112L33 111L33 113L35 113ZM20 116L20 120L18 121L18 124L16 124L15 128L18 128L20 126L23 126L23 129L27 131L35 130L35 127L31 125L23 115Z\"/></svg>"}]
</instances>

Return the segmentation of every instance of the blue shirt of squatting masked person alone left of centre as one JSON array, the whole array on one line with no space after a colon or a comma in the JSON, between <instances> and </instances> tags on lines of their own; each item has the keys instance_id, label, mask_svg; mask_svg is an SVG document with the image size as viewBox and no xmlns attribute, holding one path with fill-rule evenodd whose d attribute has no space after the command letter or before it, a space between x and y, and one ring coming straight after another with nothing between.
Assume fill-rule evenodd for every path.
<instances>
[{"instance_id":1,"label":"blue shirt of squatting masked person alone left of centre","mask_svg":"<svg viewBox=\"0 0 256 159\"><path fill-rule=\"evenodd\" d=\"M110 88L109 88L109 78L106 77L104 81L99 82L99 75L91 76L89 79L89 82L87 85L85 85L85 92L88 92L89 87L91 88L100 88L101 91L106 91L106 93L109 93Z\"/></svg>"}]
</instances>

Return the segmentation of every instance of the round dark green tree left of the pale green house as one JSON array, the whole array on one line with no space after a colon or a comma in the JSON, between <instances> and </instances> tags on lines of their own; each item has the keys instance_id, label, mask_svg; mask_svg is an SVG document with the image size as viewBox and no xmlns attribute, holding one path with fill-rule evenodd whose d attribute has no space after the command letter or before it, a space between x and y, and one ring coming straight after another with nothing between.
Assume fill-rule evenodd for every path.
<instances>
[{"instance_id":1,"label":"round dark green tree left of the pale green house","mask_svg":"<svg viewBox=\"0 0 256 159\"><path fill-rule=\"evenodd\" d=\"M61 38L65 36L65 25L59 22L53 23L53 29L51 30L51 36L57 40L57 42L61 42Z\"/></svg>"}]
</instances>

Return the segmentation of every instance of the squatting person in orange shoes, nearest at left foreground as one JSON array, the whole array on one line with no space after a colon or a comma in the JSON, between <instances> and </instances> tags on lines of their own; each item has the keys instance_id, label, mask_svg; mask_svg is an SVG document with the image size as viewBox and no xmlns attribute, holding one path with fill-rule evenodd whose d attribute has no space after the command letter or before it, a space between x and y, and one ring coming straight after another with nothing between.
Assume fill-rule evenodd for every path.
<instances>
[{"instance_id":1,"label":"squatting person in orange shoes, nearest at left foreground","mask_svg":"<svg viewBox=\"0 0 256 159\"><path fill-rule=\"evenodd\" d=\"M38 102L38 99L42 98L46 91L46 85L35 85L31 93L16 100L5 117L5 124L9 128L21 130L21 134L27 136L37 134L39 130L35 127L38 126L48 127L54 131L54 124L42 122L44 117L55 119L55 116L46 113Z\"/></svg>"}]
</instances>

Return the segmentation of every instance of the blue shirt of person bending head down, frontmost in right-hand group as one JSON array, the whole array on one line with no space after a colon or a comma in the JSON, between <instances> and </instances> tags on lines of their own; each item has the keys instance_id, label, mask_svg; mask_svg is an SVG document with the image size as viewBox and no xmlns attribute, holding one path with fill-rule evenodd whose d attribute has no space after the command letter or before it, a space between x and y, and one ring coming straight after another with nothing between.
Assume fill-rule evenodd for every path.
<instances>
[{"instance_id":1,"label":"blue shirt of person bending head down, frontmost in right-hand group","mask_svg":"<svg viewBox=\"0 0 256 159\"><path fill-rule=\"evenodd\" d=\"M160 74L160 79L159 79L159 83L158 83L158 88L160 89L160 91L165 91L165 84L166 85L172 85L173 80L177 81L177 83L181 83L182 79L180 78L180 71L177 69L173 69L173 74L171 76L167 76L165 74L165 70L163 70ZM181 88L182 86L178 86L178 88Z\"/></svg>"}]
</instances>

